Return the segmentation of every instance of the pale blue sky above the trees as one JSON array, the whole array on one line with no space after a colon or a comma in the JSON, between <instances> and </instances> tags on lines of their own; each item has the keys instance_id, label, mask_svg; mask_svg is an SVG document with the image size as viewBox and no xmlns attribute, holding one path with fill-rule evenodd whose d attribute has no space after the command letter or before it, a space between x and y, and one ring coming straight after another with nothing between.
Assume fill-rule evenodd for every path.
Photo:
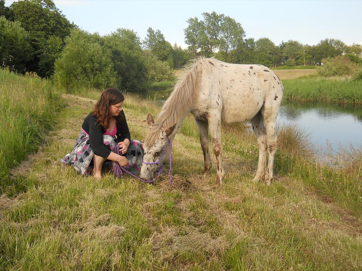
<instances>
[{"instance_id":1,"label":"pale blue sky above the trees","mask_svg":"<svg viewBox=\"0 0 362 271\"><path fill-rule=\"evenodd\" d=\"M9 6L12 0L5 0ZM121 1L54 0L71 22L90 33L110 34L117 28L135 31L141 40L148 27L159 29L171 44L185 44L189 18L203 12L224 14L241 23L246 38L269 38L276 45L297 40L315 45L325 38L362 45L362 0L335 1Z\"/></svg>"}]
</instances>

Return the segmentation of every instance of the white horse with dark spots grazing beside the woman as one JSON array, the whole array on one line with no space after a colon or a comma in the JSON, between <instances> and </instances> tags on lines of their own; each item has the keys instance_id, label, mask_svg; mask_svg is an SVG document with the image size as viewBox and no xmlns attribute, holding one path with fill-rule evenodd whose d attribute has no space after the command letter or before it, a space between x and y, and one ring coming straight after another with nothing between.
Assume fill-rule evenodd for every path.
<instances>
[{"instance_id":1,"label":"white horse with dark spots grazing beside the woman","mask_svg":"<svg viewBox=\"0 0 362 271\"><path fill-rule=\"evenodd\" d=\"M254 180L270 185L274 155L277 150L275 122L282 101L283 86L278 76L262 65L229 64L216 59L199 58L186 69L166 100L156 122L147 116L150 131L144 148L144 164L140 177L151 179L160 169L160 154L169 151L170 142L188 113L195 117L200 132L204 157L204 173L211 168L209 134L216 156L216 184L225 175L222 163L221 125L251 121L259 147L259 160ZM269 160L266 168L266 150ZM171 157L171 156L170 156ZM159 161L157 161L159 159ZM157 163L152 163L157 161Z\"/></svg>"}]
</instances>

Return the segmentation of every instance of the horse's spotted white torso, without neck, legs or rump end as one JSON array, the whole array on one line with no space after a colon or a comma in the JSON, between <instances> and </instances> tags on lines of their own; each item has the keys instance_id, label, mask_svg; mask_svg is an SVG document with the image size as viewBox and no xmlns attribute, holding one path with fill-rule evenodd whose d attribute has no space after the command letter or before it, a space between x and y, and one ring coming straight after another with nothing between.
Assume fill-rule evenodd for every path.
<instances>
[{"instance_id":1,"label":"horse's spotted white torso, without neck, legs or rump end","mask_svg":"<svg viewBox=\"0 0 362 271\"><path fill-rule=\"evenodd\" d=\"M215 59L209 63L210 71L201 77L198 106L202 111L220 111L223 124L251 120L270 96L270 89L278 84L273 85L277 76L265 66Z\"/></svg>"}]
</instances>

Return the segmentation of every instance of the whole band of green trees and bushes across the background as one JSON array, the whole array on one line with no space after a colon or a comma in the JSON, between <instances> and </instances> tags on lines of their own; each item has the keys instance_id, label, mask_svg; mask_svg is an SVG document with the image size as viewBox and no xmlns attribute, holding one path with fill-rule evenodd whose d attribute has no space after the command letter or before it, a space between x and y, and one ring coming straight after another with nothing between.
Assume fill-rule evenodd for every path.
<instances>
[{"instance_id":1,"label":"whole band of green trees and bushes across the background","mask_svg":"<svg viewBox=\"0 0 362 271\"><path fill-rule=\"evenodd\" d=\"M187 22L188 48L183 49L151 27L144 40L122 28L104 36L88 33L69 22L52 0L23 0L10 7L0 0L1 66L52 77L68 90L115 86L142 91L152 82L173 80L172 69L197 56L275 68L321 65L323 59L362 53L361 45L348 46L338 39L310 46L296 40L275 45L269 38L245 38L239 22L215 12Z\"/></svg>"}]
</instances>

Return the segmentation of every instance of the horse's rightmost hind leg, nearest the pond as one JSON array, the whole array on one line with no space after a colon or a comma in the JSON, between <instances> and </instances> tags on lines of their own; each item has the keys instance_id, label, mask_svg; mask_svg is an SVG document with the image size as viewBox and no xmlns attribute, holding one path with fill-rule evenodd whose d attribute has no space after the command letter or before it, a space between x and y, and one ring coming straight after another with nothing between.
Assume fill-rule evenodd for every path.
<instances>
[{"instance_id":1,"label":"horse's rightmost hind leg, nearest the pond","mask_svg":"<svg viewBox=\"0 0 362 271\"><path fill-rule=\"evenodd\" d=\"M275 123L277 122L278 111L279 106L273 106L270 108L266 107L264 112L262 112L266 128L266 142L269 152L268 169L266 170L264 181L264 184L266 185L270 185L271 179L273 179L274 155L277 151L277 133L275 129Z\"/></svg>"}]
</instances>

